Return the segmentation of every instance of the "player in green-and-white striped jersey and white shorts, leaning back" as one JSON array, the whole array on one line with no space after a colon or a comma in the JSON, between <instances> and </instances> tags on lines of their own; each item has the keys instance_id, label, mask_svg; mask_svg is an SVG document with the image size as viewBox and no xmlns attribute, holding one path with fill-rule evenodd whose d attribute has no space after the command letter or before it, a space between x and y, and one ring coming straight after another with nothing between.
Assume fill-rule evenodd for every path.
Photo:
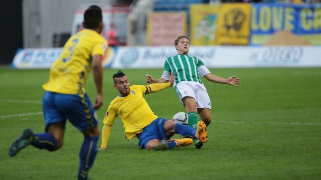
<instances>
[{"instance_id":1,"label":"player in green-and-white striped jersey and white shorts, leaning back","mask_svg":"<svg viewBox=\"0 0 321 180\"><path fill-rule=\"evenodd\" d=\"M150 75L146 75L146 82L166 83L170 74L174 73L175 82L174 89L179 97L180 103L185 107L188 114L188 126L197 129L197 113L200 119L208 126L212 121L211 101L207 94L207 90L200 80L205 77L207 80L237 86L240 79L231 76L227 79L218 77L207 69L203 62L197 57L187 55L189 51L189 40L187 36L178 36L174 41L177 55L167 57L164 63L164 71L159 79L154 79ZM195 140L195 147L200 149L202 143Z\"/></svg>"}]
</instances>

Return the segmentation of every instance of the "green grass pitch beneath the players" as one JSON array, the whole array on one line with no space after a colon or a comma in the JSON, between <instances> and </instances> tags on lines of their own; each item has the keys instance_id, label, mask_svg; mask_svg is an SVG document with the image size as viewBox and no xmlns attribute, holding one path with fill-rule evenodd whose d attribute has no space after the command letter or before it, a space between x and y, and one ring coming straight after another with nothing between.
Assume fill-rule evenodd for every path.
<instances>
[{"instance_id":1,"label":"green grass pitch beneath the players","mask_svg":"<svg viewBox=\"0 0 321 180\"><path fill-rule=\"evenodd\" d=\"M210 69L221 77L236 75L240 87L202 79L212 101L208 142L165 152L138 150L138 140L126 141L121 121L113 125L106 151L98 152L92 180L320 180L321 68ZM117 96L112 75L104 69L102 119ZM123 70L131 85L146 84L145 74L160 77L161 69ZM0 68L0 179L76 180L82 135L67 123L64 146L56 152L31 146L8 156L10 143L24 128L43 132L41 114L47 69ZM87 92L95 99L92 74ZM184 111L173 88L145 96L163 118ZM179 138L175 135L174 138ZM100 146L100 141L98 143Z\"/></svg>"}]
</instances>

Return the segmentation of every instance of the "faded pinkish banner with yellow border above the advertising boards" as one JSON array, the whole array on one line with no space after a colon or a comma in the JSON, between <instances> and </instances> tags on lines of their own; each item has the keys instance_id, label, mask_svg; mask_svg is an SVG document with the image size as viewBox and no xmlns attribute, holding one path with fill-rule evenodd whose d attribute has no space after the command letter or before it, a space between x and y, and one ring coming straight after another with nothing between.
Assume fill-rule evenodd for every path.
<instances>
[{"instance_id":1,"label":"faded pinkish banner with yellow border above the advertising boards","mask_svg":"<svg viewBox=\"0 0 321 180\"><path fill-rule=\"evenodd\" d=\"M186 12L150 12L147 20L147 45L172 45L186 34Z\"/></svg>"}]
</instances>

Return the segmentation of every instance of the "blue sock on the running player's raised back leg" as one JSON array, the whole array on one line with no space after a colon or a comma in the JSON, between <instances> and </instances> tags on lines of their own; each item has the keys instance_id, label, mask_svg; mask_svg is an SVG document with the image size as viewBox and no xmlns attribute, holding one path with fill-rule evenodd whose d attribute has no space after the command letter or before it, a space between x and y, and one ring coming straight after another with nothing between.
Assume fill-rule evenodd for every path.
<instances>
[{"instance_id":1,"label":"blue sock on the running player's raised back leg","mask_svg":"<svg viewBox=\"0 0 321 180\"><path fill-rule=\"evenodd\" d=\"M35 141L32 146L39 149L46 149L48 151L57 150L57 141L48 133L38 133L35 135Z\"/></svg>"}]
</instances>

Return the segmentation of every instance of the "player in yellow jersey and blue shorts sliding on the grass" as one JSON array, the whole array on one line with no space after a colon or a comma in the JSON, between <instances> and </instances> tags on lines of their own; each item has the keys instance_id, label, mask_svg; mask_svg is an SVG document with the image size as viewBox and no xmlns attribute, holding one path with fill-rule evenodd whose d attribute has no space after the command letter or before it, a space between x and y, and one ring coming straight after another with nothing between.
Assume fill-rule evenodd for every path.
<instances>
[{"instance_id":1,"label":"player in yellow jersey and blue shorts sliding on the grass","mask_svg":"<svg viewBox=\"0 0 321 180\"><path fill-rule=\"evenodd\" d=\"M173 121L159 118L151 110L144 99L144 95L158 92L171 86L174 77L171 74L169 82L163 84L133 85L130 86L127 76L118 71L113 75L114 88L119 95L110 103L102 130L102 144L100 150L105 150L110 137L115 118L119 116L124 123L125 135L128 140L139 139L140 149L167 150L174 147L188 146L197 139L202 143L207 142L206 126L199 121L197 131L189 126L176 124ZM183 139L170 138L174 134L180 134ZM188 138L187 138L188 137Z\"/></svg>"}]
</instances>

